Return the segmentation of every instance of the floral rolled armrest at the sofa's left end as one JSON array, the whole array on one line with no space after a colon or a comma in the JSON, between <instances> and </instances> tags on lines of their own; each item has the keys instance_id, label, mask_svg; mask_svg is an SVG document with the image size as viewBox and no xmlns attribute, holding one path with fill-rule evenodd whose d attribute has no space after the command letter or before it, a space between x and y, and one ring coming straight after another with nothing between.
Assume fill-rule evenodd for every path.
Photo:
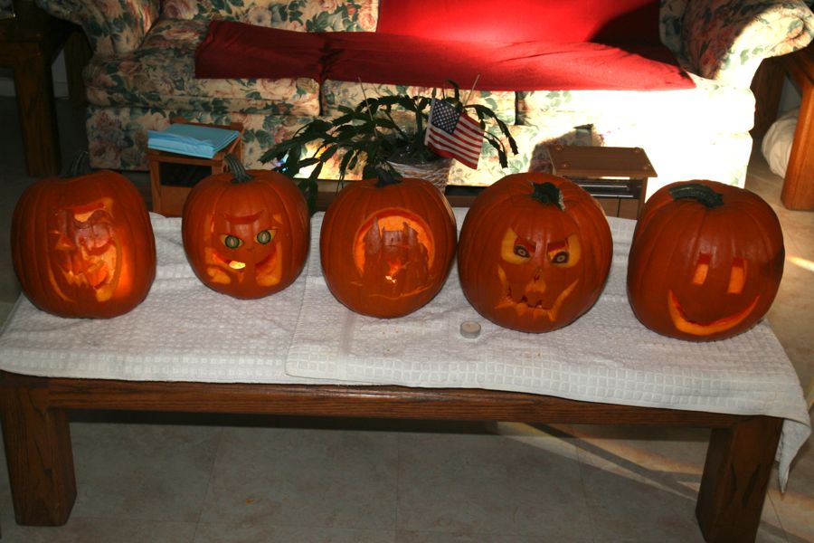
<instances>
[{"instance_id":1,"label":"floral rolled armrest at the sofa's left end","mask_svg":"<svg viewBox=\"0 0 814 543\"><path fill-rule=\"evenodd\" d=\"M79 24L93 52L110 55L137 49L161 11L160 0L36 0L43 10Z\"/></svg>"}]
</instances>

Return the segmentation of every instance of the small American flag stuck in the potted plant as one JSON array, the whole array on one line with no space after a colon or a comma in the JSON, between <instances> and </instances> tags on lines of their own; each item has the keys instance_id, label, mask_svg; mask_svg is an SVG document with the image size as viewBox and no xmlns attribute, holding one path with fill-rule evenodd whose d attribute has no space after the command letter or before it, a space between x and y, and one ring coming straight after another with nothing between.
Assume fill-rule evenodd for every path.
<instances>
[{"instance_id":1,"label":"small American flag stuck in the potted plant","mask_svg":"<svg viewBox=\"0 0 814 543\"><path fill-rule=\"evenodd\" d=\"M455 158L460 163L478 168L483 129L464 111L433 98L430 119L424 134L424 145L441 157Z\"/></svg>"}]
</instances>

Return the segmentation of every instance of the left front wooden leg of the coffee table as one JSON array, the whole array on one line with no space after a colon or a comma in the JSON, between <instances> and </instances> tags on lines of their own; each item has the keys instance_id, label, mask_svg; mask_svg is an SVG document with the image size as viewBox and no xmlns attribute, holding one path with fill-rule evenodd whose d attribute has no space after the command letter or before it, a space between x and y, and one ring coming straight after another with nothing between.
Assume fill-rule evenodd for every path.
<instances>
[{"instance_id":1,"label":"left front wooden leg of the coffee table","mask_svg":"<svg viewBox=\"0 0 814 543\"><path fill-rule=\"evenodd\" d=\"M21 385L0 394L0 417L17 523L61 526L76 500L66 411L49 405L46 387Z\"/></svg>"}]
</instances>

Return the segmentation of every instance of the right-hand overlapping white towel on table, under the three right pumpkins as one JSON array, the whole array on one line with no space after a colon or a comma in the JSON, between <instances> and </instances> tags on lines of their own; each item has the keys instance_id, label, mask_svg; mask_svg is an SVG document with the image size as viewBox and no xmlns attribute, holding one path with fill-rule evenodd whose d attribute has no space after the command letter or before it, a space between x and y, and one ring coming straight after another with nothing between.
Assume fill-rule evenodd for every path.
<instances>
[{"instance_id":1,"label":"right-hand overlapping white towel on table, under the three right pumpkins","mask_svg":"<svg viewBox=\"0 0 814 543\"><path fill-rule=\"evenodd\" d=\"M456 209L458 224L466 210ZM314 230L321 216L315 217ZM611 217L613 262L600 300L573 324L545 334L503 329L469 306L455 267L439 295L400 319L355 314L331 297L318 244L289 348L289 376L347 383L478 387L621 405L787 419L781 481L810 433L800 380L768 323L724 341L666 338L639 323L626 293L634 221ZM477 321L478 338L460 324Z\"/></svg>"}]
</instances>

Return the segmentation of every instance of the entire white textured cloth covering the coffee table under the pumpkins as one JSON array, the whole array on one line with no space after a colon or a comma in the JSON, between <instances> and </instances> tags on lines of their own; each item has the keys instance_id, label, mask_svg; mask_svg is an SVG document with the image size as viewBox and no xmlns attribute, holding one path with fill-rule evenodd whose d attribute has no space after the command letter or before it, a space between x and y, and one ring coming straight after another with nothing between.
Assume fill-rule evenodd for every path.
<instances>
[{"instance_id":1,"label":"entire white textured cloth covering the coffee table under the pumpkins","mask_svg":"<svg viewBox=\"0 0 814 543\"><path fill-rule=\"evenodd\" d=\"M465 210L456 210L459 225ZM186 262L180 219L152 215L158 270L147 300L116 319L61 319L18 301L0 335L0 368L25 375L211 383L478 387L621 405L785 419L781 486L811 431L800 381L768 324L691 343L644 328L629 308L633 221L611 218L611 276L596 305L546 334L502 329L469 307L454 269L440 294L401 319L346 310L318 259L312 219L306 270L285 291L235 300ZM482 326L463 338L460 323Z\"/></svg>"}]
</instances>

